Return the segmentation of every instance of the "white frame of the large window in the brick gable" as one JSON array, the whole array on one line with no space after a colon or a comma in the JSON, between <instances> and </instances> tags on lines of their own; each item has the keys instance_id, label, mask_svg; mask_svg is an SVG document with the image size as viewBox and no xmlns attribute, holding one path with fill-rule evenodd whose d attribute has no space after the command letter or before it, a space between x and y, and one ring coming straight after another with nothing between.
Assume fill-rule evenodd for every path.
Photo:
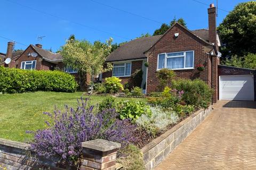
<instances>
[{"instance_id":1,"label":"white frame of the large window in the brick gable","mask_svg":"<svg viewBox=\"0 0 256 170\"><path fill-rule=\"evenodd\" d=\"M193 67L186 67L186 53L187 52L193 52ZM183 53L184 55L177 55L177 56L167 56L168 54L173 54L173 53ZM183 68L179 68L179 69L170 69L170 70L189 70L189 69L195 69L194 67L194 62L195 62L195 52L194 50L189 50L189 51L184 51L184 52L173 52L173 53L161 53L164 54L164 68L167 68L167 58L176 58L176 57L184 57L184 67ZM159 55L157 55L157 66L156 66L156 70L161 70L158 68L158 61L159 61ZM162 68L162 69L164 69Z\"/></svg>"}]
</instances>

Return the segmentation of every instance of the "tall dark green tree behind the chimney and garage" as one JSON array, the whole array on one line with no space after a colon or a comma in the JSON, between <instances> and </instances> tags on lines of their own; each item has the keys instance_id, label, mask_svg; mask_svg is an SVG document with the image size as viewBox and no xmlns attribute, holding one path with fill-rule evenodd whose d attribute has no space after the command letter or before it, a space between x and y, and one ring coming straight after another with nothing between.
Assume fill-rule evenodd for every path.
<instances>
[{"instance_id":1,"label":"tall dark green tree behind the chimney and garage","mask_svg":"<svg viewBox=\"0 0 256 170\"><path fill-rule=\"evenodd\" d=\"M256 2L238 4L219 25L223 56L256 53Z\"/></svg>"}]
</instances>

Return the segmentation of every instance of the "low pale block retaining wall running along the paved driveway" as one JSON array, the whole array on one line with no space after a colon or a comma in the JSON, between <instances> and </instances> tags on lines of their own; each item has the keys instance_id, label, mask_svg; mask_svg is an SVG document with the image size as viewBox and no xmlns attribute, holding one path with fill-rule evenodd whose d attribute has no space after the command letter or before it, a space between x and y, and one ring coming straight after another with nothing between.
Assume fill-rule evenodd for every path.
<instances>
[{"instance_id":1,"label":"low pale block retaining wall running along the paved driveway","mask_svg":"<svg viewBox=\"0 0 256 170\"><path fill-rule=\"evenodd\" d=\"M188 135L201 124L212 111L212 106L201 109L190 115L186 120L148 143L141 149L146 169L154 169L159 165Z\"/></svg>"}]
</instances>

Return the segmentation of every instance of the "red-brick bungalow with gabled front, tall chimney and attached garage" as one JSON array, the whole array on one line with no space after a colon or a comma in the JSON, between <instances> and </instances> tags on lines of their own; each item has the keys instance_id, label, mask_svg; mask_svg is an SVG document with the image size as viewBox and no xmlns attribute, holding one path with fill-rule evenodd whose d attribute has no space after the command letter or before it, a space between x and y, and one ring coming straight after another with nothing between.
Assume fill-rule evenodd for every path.
<instances>
[{"instance_id":1,"label":"red-brick bungalow with gabled front, tall chimney and attached garage","mask_svg":"<svg viewBox=\"0 0 256 170\"><path fill-rule=\"evenodd\" d=\"M177 77L199 78L205 81L214 89L214 103L223 95L226 96L221 99L254 100L255 71L247 71L249 75L246 78L243 74L223 81L220 79L224 66L220 66L221 43L216 27L216 8L213 4L208 8L208 16L209 30L188 30L175 23L164 35L138 38L121 45L107 57L106 62L113 64L113 71L103 73L102 79L115 76L119 77L122 83L131 83L131 74L141 69L143 71L141 88L148 94L157 91L159 81L156 72L167 68L174 70ZM148 66L145 66L145 63ZM197 70L198 64L204 66L204 71ZM246 72L246 69L243 70ZM239 71L234 74L239 74ZM248 81L249 77L251 81ZM224 89L219 89L219 79L220 87ZM233 89L237 81L241 83L237 89ZM250 97L245 95L248 94L248 91L244 92L246 83L249 84L249 92L254 94L253 98L252 95ZM223 86L223 84L229 85ZM232 95L228 95L230 93Z\"/></svg>"}]
</instances>

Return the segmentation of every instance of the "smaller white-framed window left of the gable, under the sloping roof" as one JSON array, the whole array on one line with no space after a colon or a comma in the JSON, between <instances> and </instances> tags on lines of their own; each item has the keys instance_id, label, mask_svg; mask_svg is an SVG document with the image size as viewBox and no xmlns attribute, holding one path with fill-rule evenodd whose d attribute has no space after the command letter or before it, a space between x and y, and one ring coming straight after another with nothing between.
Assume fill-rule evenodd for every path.
<instances>
[{"instance_id":1,"label":"smaller white-framed window left of the gable, under the sloping roof","mask_svg":"<svg viewBox=\"0 0 256 170\"><path fill-rule=\"evenodd\" d=\"M122 63L113 65L113 76L128 77L131 76L131 63Z\"/></svg>"}]
</instances>

